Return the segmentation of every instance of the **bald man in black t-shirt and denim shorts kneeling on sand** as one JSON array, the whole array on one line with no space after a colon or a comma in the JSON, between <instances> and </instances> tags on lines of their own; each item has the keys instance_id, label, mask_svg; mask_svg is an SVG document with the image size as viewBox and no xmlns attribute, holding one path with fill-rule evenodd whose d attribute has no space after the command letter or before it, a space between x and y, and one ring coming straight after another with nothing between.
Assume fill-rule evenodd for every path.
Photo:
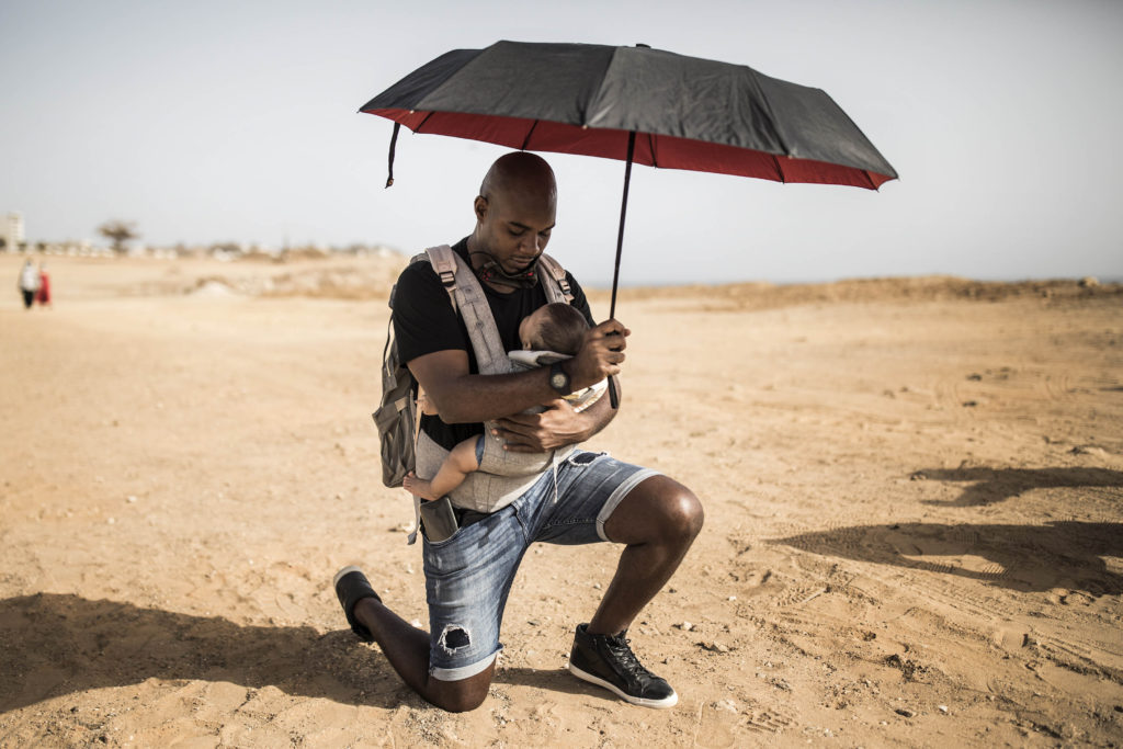
<instances>
[{"instance_id":1,"label":"bald man in black t-shirt and denim shorts kneeling on sand","mask_svg":"<svg viewBox=\"0 0 1123 749\"><path fill-rule=\"evenodd\" d=\"M547 303L542 284L553 278L540 272L539 258L556 202L549 165L524 152L508 154L484 177L472 234L453 247L478 278L506 349L518 348L520 321ZM336 575L356 634L377 642L402 679L445 710L472 710L486 697L506 597L535 541L626 545L600 605L576 628L569 670L632 704L669 707L678 700L640 664L627 631L702 529L702 505L655 471L573 448L608 426L615 409L602 398L576 411L564 398L606 377L619 392L629 331L617 320L592 325L581 286L572 275L567 281L573 305L591 325L579 349L549 367L502 374L480 372L464 322L428 263L410 265L398 282L399 351L440 414L421 418L418 475L432 478L457 444L484 433L484 422L496 424L493 436L508 453L564 456L554 469L524 478L469 473L451 491L458 530L423 542L429 632L384 604L359 569ZM546 409L522 413L532 407Z\"/></svg>"}]
</instances>

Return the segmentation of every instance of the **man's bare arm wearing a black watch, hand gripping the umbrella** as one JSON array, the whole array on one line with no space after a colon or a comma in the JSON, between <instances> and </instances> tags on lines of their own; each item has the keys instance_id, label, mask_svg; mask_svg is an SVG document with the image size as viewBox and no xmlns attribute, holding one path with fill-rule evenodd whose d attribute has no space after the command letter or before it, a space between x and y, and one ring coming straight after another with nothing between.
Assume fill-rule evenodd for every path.
<instances>
[{"instance_id":1,"label":"man's bare arm wearing a black watch, hand gripping the umbrella","mask_svg":"<svg viewBox=\"0 0 1123 749\"><path fill-rule=\"evenodd\" d=\"M629 332L620 322L609 320L585 334L581 350L562 365L569 375L573 390L588 387L620 373ZM558 400L557 391L550 387L547 368L473 375L468 371L467 353L459 349L426 354L411 359L408 366L446 423L492 421ZM596 407L573 413L573 417L582 417L579 421L585 427L576 431L592 429L588 420L595 413L600 413Z\"/></svg>"}]
</instances>

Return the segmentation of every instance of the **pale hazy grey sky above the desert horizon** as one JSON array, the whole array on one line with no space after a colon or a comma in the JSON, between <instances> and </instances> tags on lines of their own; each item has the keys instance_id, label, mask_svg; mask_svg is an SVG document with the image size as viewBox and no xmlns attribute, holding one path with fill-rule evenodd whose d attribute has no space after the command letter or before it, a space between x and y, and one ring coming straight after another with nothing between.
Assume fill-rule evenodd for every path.
<instances>
[{"instance_id":1,"label":"pale hazy grey sky above the desert horizon","mask_svg":"<svg viewBox=\"0 0 1123 749\"><path fill-rule=\"evenodd\" d=\"M454 243L503 148L357 113L500 39L648 44L827 91L877 192L637 166L622 285L1123 277L1123 2L0 3L0 216L30 241ZM611 283L623 164L544 154L549 250Z\"/></svg>"}]
</instances>

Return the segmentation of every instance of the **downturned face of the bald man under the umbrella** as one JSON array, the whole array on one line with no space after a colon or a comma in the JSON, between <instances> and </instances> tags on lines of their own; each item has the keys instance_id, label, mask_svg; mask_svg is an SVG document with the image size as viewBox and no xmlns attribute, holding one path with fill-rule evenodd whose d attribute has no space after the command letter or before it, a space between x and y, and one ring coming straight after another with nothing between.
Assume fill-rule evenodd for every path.
<instances>
[{"instance_id":1,"label":"downturned face of the bald man under the umbrella","mask_svg":"<svg viewBox=\"0 0 1123 749\"><path fill-rule=\"evenodd\" d=\"M554 229L556 201L542 190L496 191L476 198L476 220L483 249L503 271L524 271L546 249Z\"/></svg>"}]
</instances>

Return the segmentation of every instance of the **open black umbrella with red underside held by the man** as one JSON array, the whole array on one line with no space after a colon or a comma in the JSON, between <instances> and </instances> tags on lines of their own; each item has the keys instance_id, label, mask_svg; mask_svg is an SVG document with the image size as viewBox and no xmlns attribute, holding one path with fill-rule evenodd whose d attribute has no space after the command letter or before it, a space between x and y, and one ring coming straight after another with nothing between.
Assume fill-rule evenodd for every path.
<instances>
[{"instance_id":1,"label":"open black umbrella with red underside held by the man","mask_svg":"<svg viewBox=\"0 0 1123 749\"><path fill-rule=\"evenodd\" d=\"M609 317L615 316L632 163L876 190L889 163L819 89L646 45L497 42L422 65L359 111L522 150L626 162Z\"/></svg>"}]
</instances>

